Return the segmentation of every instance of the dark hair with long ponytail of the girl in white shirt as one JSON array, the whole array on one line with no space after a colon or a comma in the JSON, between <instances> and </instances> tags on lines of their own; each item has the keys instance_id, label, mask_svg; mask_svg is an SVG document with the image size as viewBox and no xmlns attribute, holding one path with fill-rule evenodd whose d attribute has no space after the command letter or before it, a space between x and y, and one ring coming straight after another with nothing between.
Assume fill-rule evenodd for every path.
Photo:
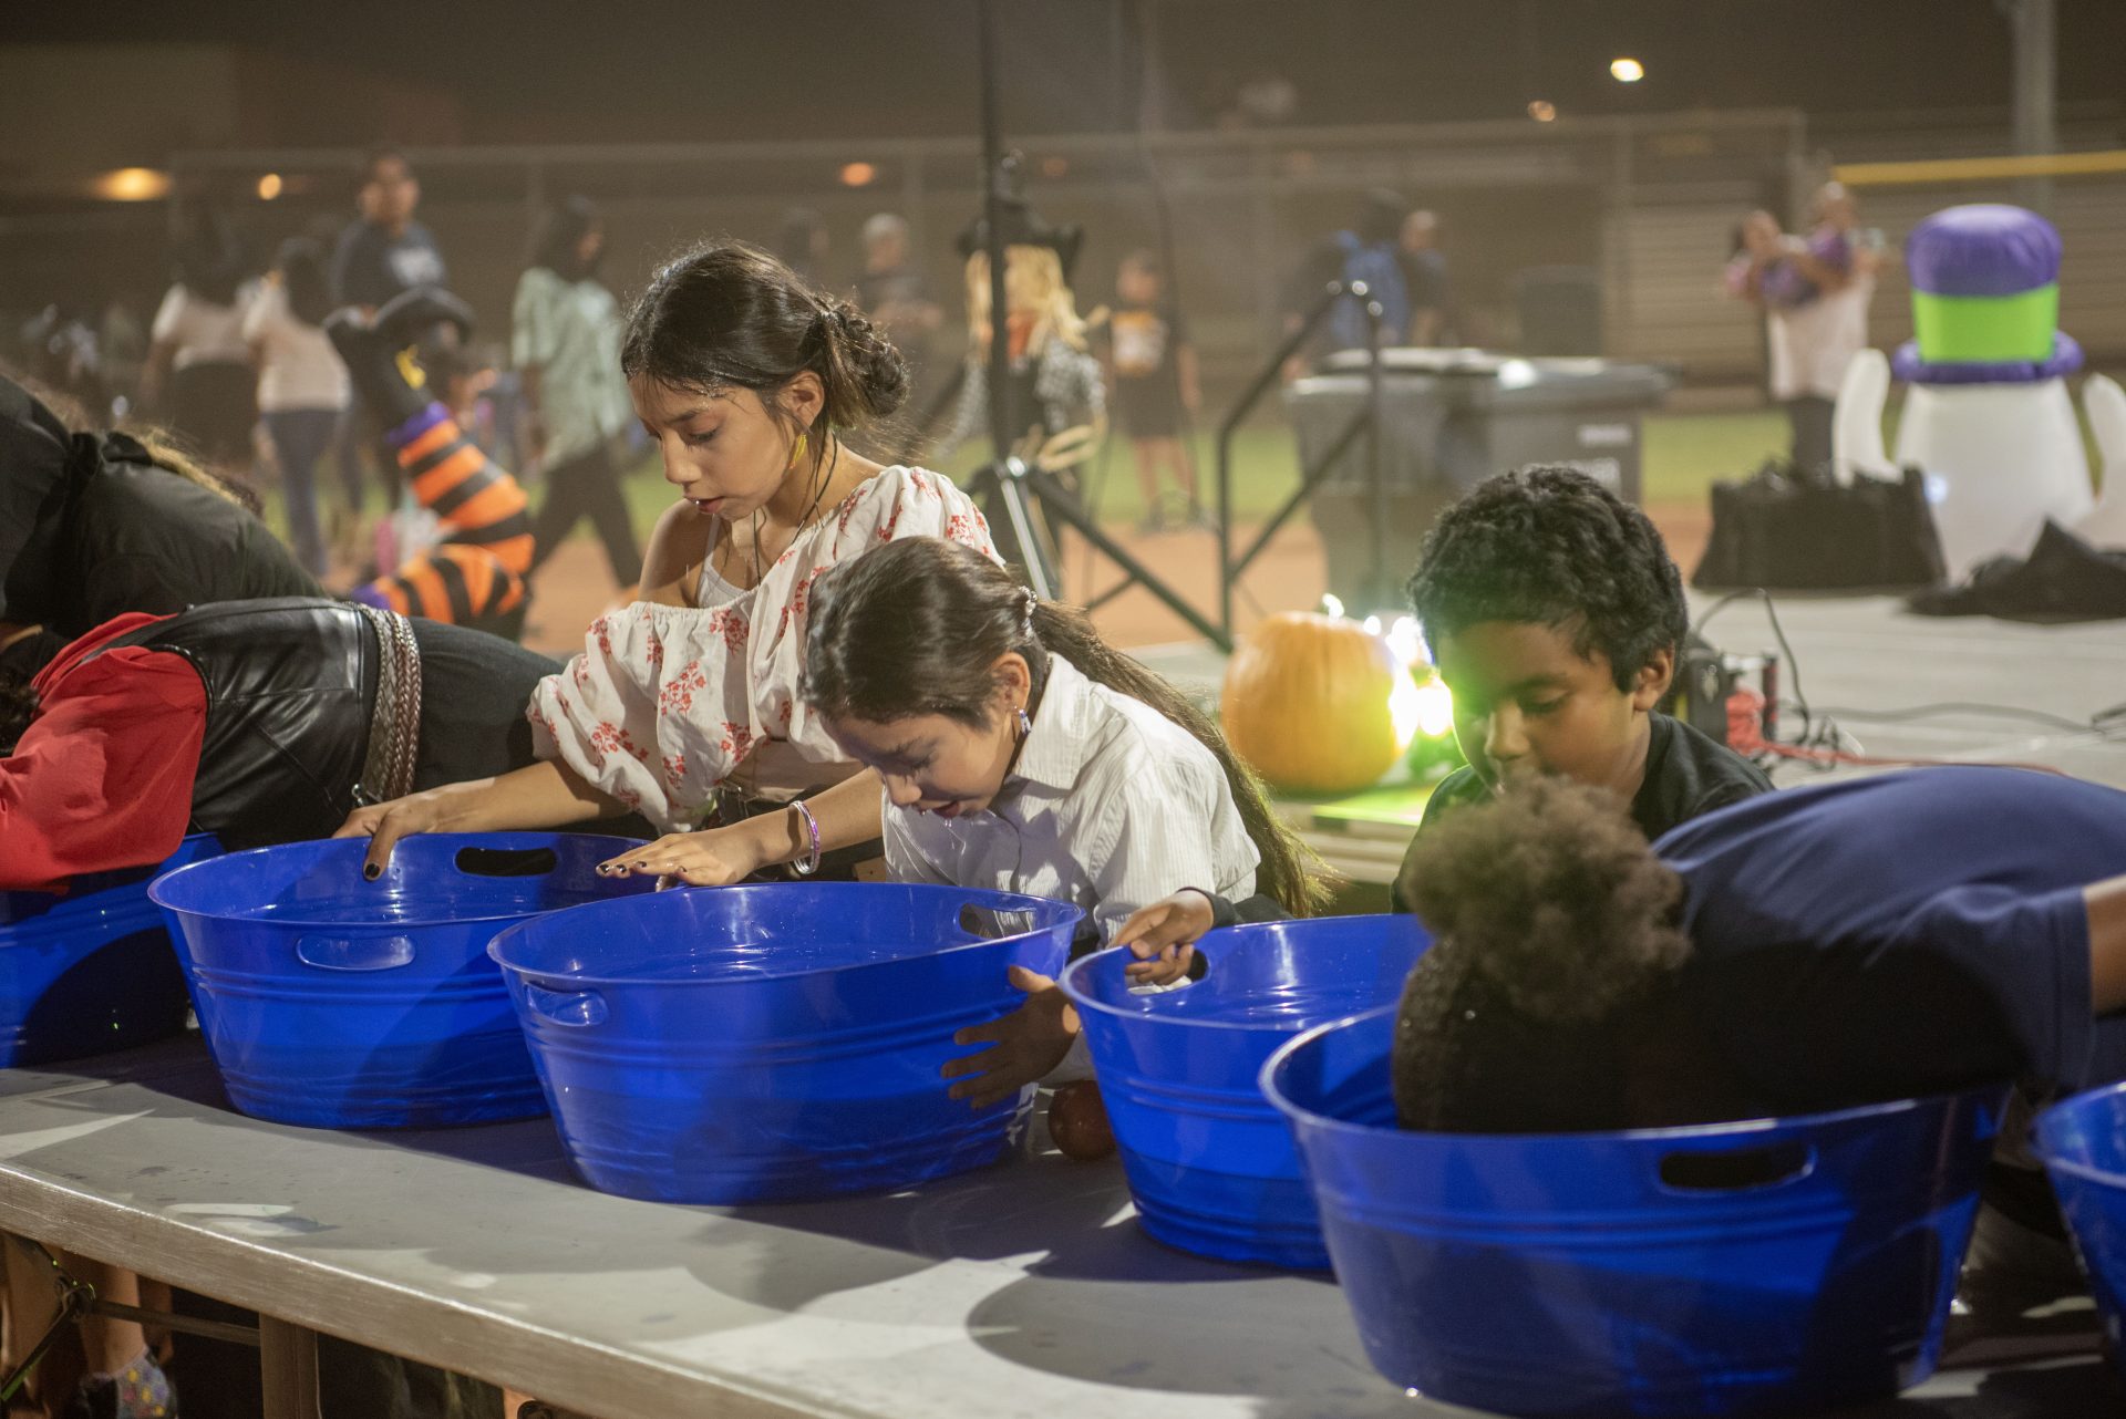
<instances>
[{"instance_id":1,"label":"dark hair with long ponytail of the girl in white shirt","mask_svg":"<svg viewBox=\"0 0 2126 1419\"><path fill-rule=\"evenodd\" d=\"M1329 869L1269 805L1208 714L1103 642L1084 612L1035 601L1010 571L959 542L901 537L823 576L812 588L804 697L833 718L882 724L942 714L980 729L997 699L993 667L1014 650L1033 669L1035 688L1044 686L1048 656L1059 654L1086 680L1186 729L1225 771L1263 856L1261 890L1295 916L1329 903Z\"/></svg>"}]
</instances>

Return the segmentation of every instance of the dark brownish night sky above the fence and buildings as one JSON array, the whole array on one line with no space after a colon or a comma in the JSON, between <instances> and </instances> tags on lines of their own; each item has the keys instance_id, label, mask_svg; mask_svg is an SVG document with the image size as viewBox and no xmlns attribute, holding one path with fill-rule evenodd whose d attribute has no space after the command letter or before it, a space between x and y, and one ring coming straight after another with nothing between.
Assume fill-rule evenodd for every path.
<instances>
[{"instance_id":1,"label":"dark brownish night sky above the fence and buildings","mask_svg":"<svg viewBox=\"0 0 2126 1419\"><path fill-rule=\"evenodd\" d=\"M1994 0L997 0L1006 123L1129 123L1157 4L1165 108L1203 125L1256 74L1295 123L1799 106L2001 108ZM2060 0L2060 100L2122 100L2126 4ZM470 142L959 134L974 123L974 0L100 0L11 6L9 42L189 40L338 62L451 93ZM1618 53L1648 79L1607 76ZM332 115L347 142L389 138Z\"/></svg>"}]
</instances>

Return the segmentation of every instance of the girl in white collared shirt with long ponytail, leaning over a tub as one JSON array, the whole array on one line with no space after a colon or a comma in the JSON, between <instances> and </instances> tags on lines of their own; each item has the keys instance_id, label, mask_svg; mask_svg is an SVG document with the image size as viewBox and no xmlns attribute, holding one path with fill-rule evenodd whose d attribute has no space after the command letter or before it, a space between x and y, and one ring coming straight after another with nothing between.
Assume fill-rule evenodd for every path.
<instances>
[{"instance_id":1,"label":"girl in white collared shirt with long ponytail, leaning over a tub","mask_svg":"<svg viewBox=\"0 0 2126 1419\"><path fill-rule=\"evenodd\" d=\"M1248 916L1324 901L1216 724L972 548L914 537L823 578L804 697L878 771L897 879L1072 901L1101 941L1140 939L1146 909L1184 888L1248 899ZM1167 954L1131 975L1171 984L1184 967ZM1054 981L1014 984L1025 1009L965 1030L991 1049L946 1066L978 1109L1048 1075L1076 1035Z\"/></svg>"}]
</instances>

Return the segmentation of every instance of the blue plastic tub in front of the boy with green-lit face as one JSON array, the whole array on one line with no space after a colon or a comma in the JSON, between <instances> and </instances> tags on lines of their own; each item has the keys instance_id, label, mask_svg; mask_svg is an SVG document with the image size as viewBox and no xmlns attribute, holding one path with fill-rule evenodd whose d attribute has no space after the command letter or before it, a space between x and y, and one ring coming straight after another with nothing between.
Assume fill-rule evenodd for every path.
<instances>
[{"instance_id":1,"label":"blue plastic tub in front of the boy with green-lit face","mask_svg":"<svg viewBox=\"0 0 2126 1419\"><path fill-rule=\"evenodd\" d=\"M1329 1266L1263 1062L1293 1035L1401 998L1431 945L1412 916L1214 930L1180 990L1133 992L1127 950L1063 973L1144 1230L1222 1262Z\"/></svg>"}]
</instances>

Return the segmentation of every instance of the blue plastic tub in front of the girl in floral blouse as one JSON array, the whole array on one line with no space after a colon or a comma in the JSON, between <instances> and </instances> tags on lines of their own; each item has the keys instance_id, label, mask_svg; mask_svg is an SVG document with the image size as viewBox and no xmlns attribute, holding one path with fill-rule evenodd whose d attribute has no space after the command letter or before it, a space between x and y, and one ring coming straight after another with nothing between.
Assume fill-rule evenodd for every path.
<instances>
[{"instance_id":1,"label":"blue plastic tub in front of the girl in floral blouse","mask_svg":"<svg viewBox=\"0 0 2126 1419\"><path fill-rule=\"evenodd\" d=\"M419 835L364 882L366 839L236 852L159 877L230 1102L313 1128L440 1128L544 1111L493 935L648 877L636 843L566 833Z\"/></svg>"}]
</instances>

